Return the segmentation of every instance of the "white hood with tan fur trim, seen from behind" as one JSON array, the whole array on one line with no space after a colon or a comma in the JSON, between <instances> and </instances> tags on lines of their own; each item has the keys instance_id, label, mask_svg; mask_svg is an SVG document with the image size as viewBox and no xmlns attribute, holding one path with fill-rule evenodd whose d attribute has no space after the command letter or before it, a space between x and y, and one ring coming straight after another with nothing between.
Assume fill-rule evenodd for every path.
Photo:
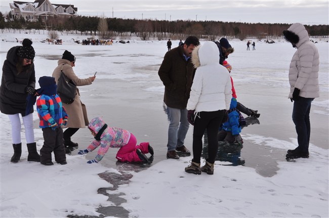
<instances>
[{"instance_id":1,"label":"white hood with tan fur trim, seen from behind","mask_svg":"<svg viewBox=\"0 0 329 218\"><path fill-rule=\"evenodd\" d=\"M192 51L191 61L194 68L219 63L219 50L217 45L212 41L206 41L202 45L198 45Z\"/></svg>"}]
</instances>

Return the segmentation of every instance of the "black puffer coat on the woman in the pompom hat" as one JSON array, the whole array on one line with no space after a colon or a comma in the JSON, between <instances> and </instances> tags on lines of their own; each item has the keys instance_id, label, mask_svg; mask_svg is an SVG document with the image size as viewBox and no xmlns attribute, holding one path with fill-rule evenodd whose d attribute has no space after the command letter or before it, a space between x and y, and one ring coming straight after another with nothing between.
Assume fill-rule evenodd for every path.
<instances>
[{"instance_id":1,"label":"black puffer coat on the woman in the pompom hat","mask_svg":"<svg viewBox=\"0 0 329 218\"><path fill-rule=\"evenodd\" d=\"M32 63L30 68L23 67L23 71L17 73L17 49L19 47L21 46L9 49L7 60L4 62L0 86L0 111L7 115L22 114L24 117L27 97L25 87L29 85L35 88L35 71Z\"/></svg>"}]
</instances>

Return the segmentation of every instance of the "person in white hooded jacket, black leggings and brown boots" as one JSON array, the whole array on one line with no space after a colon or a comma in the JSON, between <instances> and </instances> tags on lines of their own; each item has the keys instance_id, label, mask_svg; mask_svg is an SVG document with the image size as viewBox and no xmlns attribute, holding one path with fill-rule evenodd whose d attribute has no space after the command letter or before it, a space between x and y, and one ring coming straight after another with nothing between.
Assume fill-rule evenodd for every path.
<instances>
[{"instance_id":1,"label":"person in white hooded jacket, black leggings and brown boots","mask_svg":"<svg viewBox=\"0 0 329 218\"><path fill-rule=\"evenodd\" d=\"M212 175L218 149L218 129L232 97L231 79L226 68L219 64L219 50L214 42L207 41L194 48L192 63L196 72L186 108L189 110L188 121L194 125L193 159L185 172L201 174L203 171ZM202 136L206 129L209 156L201 168Z\"/></svg>"}]
</instances>

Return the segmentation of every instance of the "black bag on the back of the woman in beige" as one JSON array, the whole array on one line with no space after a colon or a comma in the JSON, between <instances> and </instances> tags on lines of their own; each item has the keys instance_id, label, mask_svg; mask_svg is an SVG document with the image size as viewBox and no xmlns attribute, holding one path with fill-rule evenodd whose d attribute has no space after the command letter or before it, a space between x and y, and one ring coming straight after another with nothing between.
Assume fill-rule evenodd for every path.
<instances>
[{"instance_id":1,"label":"black bag on the back of the woman in beige","mask_svg":"<svg viewBox=\"0 0 329 218\"><path fill-rule=\"evenodd\" d=\"M66 104L71 104L76 95L76 84L65 76L63 68L57 82L57 94Z\"/></svg>"}]
</instances>

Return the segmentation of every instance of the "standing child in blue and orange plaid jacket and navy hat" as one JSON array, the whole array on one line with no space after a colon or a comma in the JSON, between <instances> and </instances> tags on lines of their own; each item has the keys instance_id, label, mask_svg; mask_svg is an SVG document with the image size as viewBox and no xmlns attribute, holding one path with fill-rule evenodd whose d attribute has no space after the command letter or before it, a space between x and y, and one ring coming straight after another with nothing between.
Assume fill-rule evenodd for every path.
<instances>
[{"instance_id":1,"label":"standing child in blue and orange plaid jacket and navy hat","mask_svg":"<svg viewBox=\"0 0 329 218\"><path fill-rule=\"evenodd\" d=\"M61 98L57 95L57 85L54 77L43 76L39 79L40 97L36 100L37 114L40 119L39 127L43 130L44 145L40 149L40 163L46 166L54 165L55 161L65 165L66 155L63 140L62 125L67 123L67 114L62 106Z\"/></svg>"}]
</instances>

